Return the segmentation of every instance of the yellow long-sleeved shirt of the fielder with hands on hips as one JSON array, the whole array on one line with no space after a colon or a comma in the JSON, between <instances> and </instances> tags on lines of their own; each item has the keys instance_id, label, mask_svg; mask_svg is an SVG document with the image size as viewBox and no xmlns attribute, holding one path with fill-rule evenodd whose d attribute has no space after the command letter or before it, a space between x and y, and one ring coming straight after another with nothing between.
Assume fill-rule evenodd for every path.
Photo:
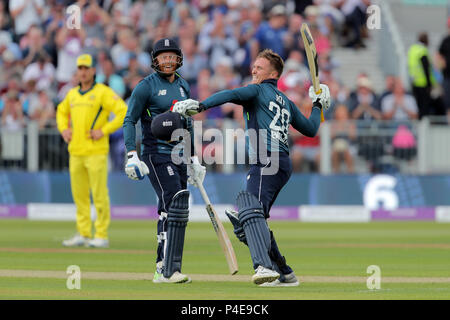
<instances>
[{"instance_id":1,"label":"yellow long-sleeved shirt of the fielder with hands on hips","mask_svg":"<svg viewBox=\"0 0 450 320\"><path fill-rule=\"evenodd\" d=\"M115 117L108 121L111 112ZM71 155L107 154L109 135L122 126L126 112L127 105L111 88L95 83L85 92L78 86L67 93L58 105L56 123L60 132L72 129ZM94 129L101 129L104 136L92 140L89 132Z\"/></svg>"}]
</instances>

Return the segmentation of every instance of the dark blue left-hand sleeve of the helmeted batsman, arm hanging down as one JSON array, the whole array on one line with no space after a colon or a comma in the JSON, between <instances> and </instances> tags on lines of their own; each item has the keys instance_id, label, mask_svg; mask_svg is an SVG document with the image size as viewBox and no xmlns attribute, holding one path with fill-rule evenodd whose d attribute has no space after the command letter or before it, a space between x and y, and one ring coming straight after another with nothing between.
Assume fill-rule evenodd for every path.
<instances>
[{"instance_id":1,"label":"dark blue left-hand sleeve of the helmeted batsman, arm hanging down","mask_svg":"<svg viewBox=\"0 0 450 320\"><path fill-rule=\"evenodd\" d=\"M128 101L127 114L123 120L123 138L127 152L136 150L136 123L147 106L149 88L145 80L138 83Z\"/></svg>"}]
</instances>

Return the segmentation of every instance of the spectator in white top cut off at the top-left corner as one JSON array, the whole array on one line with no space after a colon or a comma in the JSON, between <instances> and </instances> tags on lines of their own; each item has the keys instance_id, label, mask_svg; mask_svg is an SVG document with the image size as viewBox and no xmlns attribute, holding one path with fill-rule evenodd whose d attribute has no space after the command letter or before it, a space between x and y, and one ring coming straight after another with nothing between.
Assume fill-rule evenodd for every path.
<instances>
[{"instance_id":1,"label":"spectator in white top cut off at the top-left corner","mask_svg":"<svg viewBox=\"0 0 450 320\"><path fill-rule=\"evenodd\" d=\"M14 20L16 42L20 41L32 25L41 24L43 11L43 0L9 0L9 12Z\"/></svg>"}]
</instances>

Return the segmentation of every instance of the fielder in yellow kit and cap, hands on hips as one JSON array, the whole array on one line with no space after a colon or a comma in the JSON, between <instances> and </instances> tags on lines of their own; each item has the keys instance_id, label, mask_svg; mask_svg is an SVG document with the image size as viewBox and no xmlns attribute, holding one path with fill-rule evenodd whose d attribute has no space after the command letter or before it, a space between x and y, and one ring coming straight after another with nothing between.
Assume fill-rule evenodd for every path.
<instances>
[{"instance_id":1,"label":"fielder in yellow kit and cap, hands on hips","mask_svg":"<svg viewBox=\"0 0 450 320\"><path fill-rule=\"evenodd\" d=\"M67 93L56 112L58 130L69 144L70 184L77 207L78 233L63 245L105 248L109 246L110 223L109 135L122 126L127 106L111 88L95 83L95 67L89 54L78 57L77 77L80 85ZM111 112L115 117L108 121ZM90 192L97 211L93 239Z\"/></svg>"}]
</instances>

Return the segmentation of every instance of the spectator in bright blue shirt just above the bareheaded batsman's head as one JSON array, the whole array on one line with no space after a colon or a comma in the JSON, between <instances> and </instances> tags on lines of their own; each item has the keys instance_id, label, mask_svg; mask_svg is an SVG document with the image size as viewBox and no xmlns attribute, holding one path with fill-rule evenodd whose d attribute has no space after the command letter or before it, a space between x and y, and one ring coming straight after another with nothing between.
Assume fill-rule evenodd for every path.
<instances>
[{"instance_id":1,"label":"spectator in bright blue shirt just above the bareheaded batsman's head","mask_svg":"<svg viewBox=\"0 0 450 320\"><path fill-rule=\"evenodd\" d=\"M287 35L286 7L278 4L269 11L269 20L263 21L255 33L251 44L252 61L263 49L272 49L283 60L287 58L285 41Z\"/></svg>"}]
</instances>

